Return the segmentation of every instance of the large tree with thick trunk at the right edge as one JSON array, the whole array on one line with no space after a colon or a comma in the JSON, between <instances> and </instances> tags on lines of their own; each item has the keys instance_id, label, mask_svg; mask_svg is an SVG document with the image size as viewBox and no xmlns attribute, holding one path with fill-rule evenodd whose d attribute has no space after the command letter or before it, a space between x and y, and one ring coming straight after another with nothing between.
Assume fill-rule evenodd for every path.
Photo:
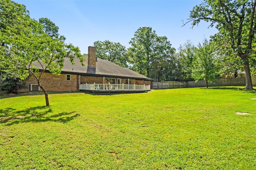
<instances>
[{"instance_id":1,"label":"large tree with thick trunk at the right edge","mask_svg":"<svg viewBox=\"0 0 256 170\"><path fill-rule=\"evenodd\" d=\"M255 45L256 0L204 0L190 11L192 25L209 21L219 32L215 35L223 46L230 47L240 57L246 72L245 89L253 90L250 53ZM187 22L187 23L188 23ZM185 23L186 24L186 23Z\"/></svg>"}]
</instances>

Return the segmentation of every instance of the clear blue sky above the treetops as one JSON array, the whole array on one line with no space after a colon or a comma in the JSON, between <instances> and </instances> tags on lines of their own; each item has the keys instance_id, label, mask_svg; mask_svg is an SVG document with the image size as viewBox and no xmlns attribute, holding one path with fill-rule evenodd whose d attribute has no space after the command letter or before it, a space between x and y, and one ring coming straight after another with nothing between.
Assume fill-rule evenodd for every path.
<instances>
[{"instance_id":1,"label":"clear blue sky above the treetops","mask_svg":"<svg viewBox=\"0 0 256 170\"><path fill-rule=\"evenodd\" d=\"M24 4L30 17L49 18L59 27L66 43L78 46L81 53L95 41L119 42L126 48L139 27L152 27L158 36L166 36L172 47L190 39L194 45L214 35L216 28L201 22L181 27L190 10L202 0L14 0Z\"/></svg>"}]
</instances>

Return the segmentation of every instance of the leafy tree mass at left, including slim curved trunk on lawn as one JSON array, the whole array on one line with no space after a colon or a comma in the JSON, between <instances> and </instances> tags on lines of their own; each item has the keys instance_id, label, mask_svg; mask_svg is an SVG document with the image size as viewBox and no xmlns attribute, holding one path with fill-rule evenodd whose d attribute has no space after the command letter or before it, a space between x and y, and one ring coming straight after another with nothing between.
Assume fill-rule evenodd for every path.
<instances>
[{"instance_id":1,"label":"leafy tree mass at left, including slim curved trunk on lawn","mask_svg":"<svg viewBox=\"0 0 256 170\"><path fill-rule=\"evenodd\" d=\"M48 69L59 75L65 57L73 64L74 57L78 57L82 63L84 59L80 50L72 44L64 43L61 38L52 38L45 33L44 25L32 20L24 5L1 0L0 15L1 72L12 72L21 80L27 78L29 73L32 74L44 91L46 106L49 106L48 94L40 82L42 74ZM35 68L35 62L41 68Z\"/></svg>"}]
</instances>

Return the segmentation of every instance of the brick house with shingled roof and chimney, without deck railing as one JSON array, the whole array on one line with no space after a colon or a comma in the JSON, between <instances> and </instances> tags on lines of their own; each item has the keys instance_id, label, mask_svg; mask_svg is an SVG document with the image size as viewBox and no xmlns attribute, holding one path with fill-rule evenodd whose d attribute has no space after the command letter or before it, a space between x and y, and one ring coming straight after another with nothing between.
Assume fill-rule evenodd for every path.
<instances>
[{"instance_id":1,"label":"brick house with shingled roof and chimney, without deck railing","mask_svg":"<svg viewBox=\"0 0 256 170\"><path fill-rule=\"evenodd\" d=\"M42 86L46 91L78 91L80 84L136 84L150 85L150 78L143 76L133 70L124 68L107 60L96 57L96 48L88 47L88 56L83 56L85 66L79 59L75 58L72 65L68 58L64 60L64 67L60 76L45 71L41 77ZM35 66L40 68L40 66ZM27 89L20 92L40 91L34 76L26 80Z\"/></svg>"}]
</instances>

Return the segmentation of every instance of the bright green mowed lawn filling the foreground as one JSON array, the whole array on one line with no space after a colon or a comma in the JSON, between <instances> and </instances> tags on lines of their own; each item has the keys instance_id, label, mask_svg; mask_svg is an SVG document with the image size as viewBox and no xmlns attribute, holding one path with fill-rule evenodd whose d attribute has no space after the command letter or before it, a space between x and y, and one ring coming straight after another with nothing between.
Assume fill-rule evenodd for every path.
<instances>
[{"instance_id":1,"label":"bright green mowed lawn filling the foreground","mask_svg":"<svg viewBox=\"0 0 256 170\"><path fill-rule=\"evenodd\" d=\"M253 170L254 98L222 87L0 99L0 169Z\"/></svg>"}]
</instances>

